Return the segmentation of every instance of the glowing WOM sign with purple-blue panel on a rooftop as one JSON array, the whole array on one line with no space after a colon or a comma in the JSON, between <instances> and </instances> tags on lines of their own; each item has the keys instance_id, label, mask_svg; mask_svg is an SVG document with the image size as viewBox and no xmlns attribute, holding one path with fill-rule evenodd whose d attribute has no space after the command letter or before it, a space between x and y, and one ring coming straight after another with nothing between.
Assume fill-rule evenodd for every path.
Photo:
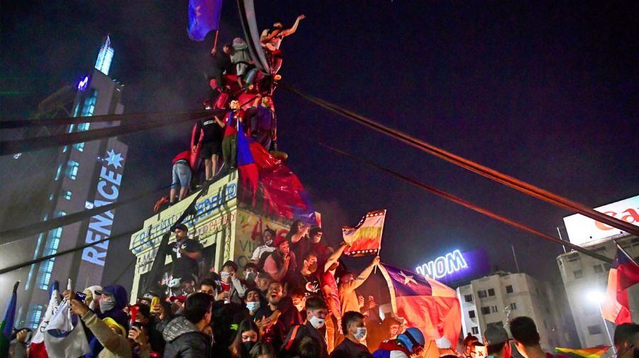
<instances>
[{"instance_id":1,"label":"glowing WOM sign with purple-blue panel on a rooftop","mask_svg":"<svg viewBox=\"0 0 639 358\"><path fill-rule=\"evenodd\" d=\"M454 250L421 264L415 268L415 272L439 282L450 283L485 276L491 272L491 264L484 249L468 252Z\"/></svg>"}]
</instances>

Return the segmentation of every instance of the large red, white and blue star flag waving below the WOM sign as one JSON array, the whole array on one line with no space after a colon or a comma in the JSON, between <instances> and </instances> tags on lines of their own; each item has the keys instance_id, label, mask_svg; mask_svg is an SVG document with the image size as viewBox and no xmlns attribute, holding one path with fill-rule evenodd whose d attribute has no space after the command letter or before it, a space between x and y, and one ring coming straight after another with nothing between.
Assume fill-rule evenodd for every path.
<instances>
[{"instance_id":1,"label":"large red, white and blue star flag waving below the WOM sign","mask_svg":"<svg viewBox=\"0 0 639 358\"><path fill-rule=\"evenodd\" d=\"M387 264L379 264L395 315L409 327L419 328L430 340L446 337L457 342L461 330L461 306L454 289L433 279Z\"/></svg>"}]
</instances>

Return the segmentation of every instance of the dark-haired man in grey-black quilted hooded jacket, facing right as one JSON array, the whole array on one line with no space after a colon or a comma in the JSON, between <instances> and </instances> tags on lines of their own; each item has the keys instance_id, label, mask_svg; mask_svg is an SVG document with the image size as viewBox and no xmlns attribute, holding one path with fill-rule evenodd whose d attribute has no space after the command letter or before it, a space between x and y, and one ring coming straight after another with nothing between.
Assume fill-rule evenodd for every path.
<instances>
[{"instance_id":1,"label":"dark-haired man in grey-black quilted hooded jacket, facing right","mask_svg":"<svg viewBox=\"0 0 639 358\"><path fill-rule=\"evenodd\" d=\"M165 358L209 358L211 337L204 333L211 323L213 298L207 293L192 293L187 297L184 315L174 318L166 326Z\"/></svg>"}]
</instances>

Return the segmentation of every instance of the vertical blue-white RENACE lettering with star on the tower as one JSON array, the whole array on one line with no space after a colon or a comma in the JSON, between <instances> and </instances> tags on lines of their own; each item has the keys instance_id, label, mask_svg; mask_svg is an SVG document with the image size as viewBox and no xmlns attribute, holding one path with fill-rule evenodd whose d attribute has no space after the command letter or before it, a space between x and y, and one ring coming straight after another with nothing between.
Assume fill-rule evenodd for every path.
<instances>
[{"instance_id":1,"label":"vertical blue-white RENACE lettering with star on the tower","mask_svg":"<svg viewBox=\"0 0 639 358\"><path fill-rule=\"evenodd\" d=\"M111 138L107 143L107 150L102 153L102 167L100 168L93 201L94 208L117 201L120 194L122 172L124 172L126 149L126 145L115 138ZM89 219L89 227L87 228L84 242L90 244L111 236L113 219L114 210L92 216ZM80 269L77 275L78 283L89 282L89 284L92 284L102 282L102 270L107 259L108 247L109 241L105 241L82 250L82 262L80 262Z\"/></svg>"}]
</instances>

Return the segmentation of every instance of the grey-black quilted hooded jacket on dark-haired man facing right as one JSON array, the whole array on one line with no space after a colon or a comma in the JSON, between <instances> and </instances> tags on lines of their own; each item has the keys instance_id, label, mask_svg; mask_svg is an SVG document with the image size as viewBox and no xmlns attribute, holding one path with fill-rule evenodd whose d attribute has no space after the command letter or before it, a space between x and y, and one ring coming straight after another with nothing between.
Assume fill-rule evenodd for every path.
<instances>
[{"instance_id":1,"label":"grey-black quilted hooded jacket on dark-haired man facing right","mask_svg":"<svg viewBox=\"0 0 639 358\"><path fill-rule=\"evenodd\" d=\"M184 317L170 321L163 332L166 347L164 358L208 358L211 357L211 338L197 329Z\"/></svg>"}]
</instances>

